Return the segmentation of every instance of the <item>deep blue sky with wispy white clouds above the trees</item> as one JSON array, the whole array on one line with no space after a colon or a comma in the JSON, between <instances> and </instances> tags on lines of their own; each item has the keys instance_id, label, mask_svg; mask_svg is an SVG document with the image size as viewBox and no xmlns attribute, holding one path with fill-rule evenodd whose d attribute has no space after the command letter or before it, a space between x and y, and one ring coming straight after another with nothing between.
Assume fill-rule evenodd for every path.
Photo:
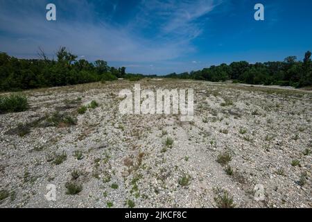
<instances>
[{"instance_id":1,"label":"deep blue sky with wispy white clouds above the trees","mask_svg":"<svg viewBox=\"0 0 312 222\"><path fill-rule=\"evenodd\" d=\"M57 21L46 21L55 3ZM254 20L254 5L265 20ZM283 60L312 50L311 0L0 0L0 51L53 58L67 46L143 74L180 73L239 60Z\"/></svg>"}]
</instances>

